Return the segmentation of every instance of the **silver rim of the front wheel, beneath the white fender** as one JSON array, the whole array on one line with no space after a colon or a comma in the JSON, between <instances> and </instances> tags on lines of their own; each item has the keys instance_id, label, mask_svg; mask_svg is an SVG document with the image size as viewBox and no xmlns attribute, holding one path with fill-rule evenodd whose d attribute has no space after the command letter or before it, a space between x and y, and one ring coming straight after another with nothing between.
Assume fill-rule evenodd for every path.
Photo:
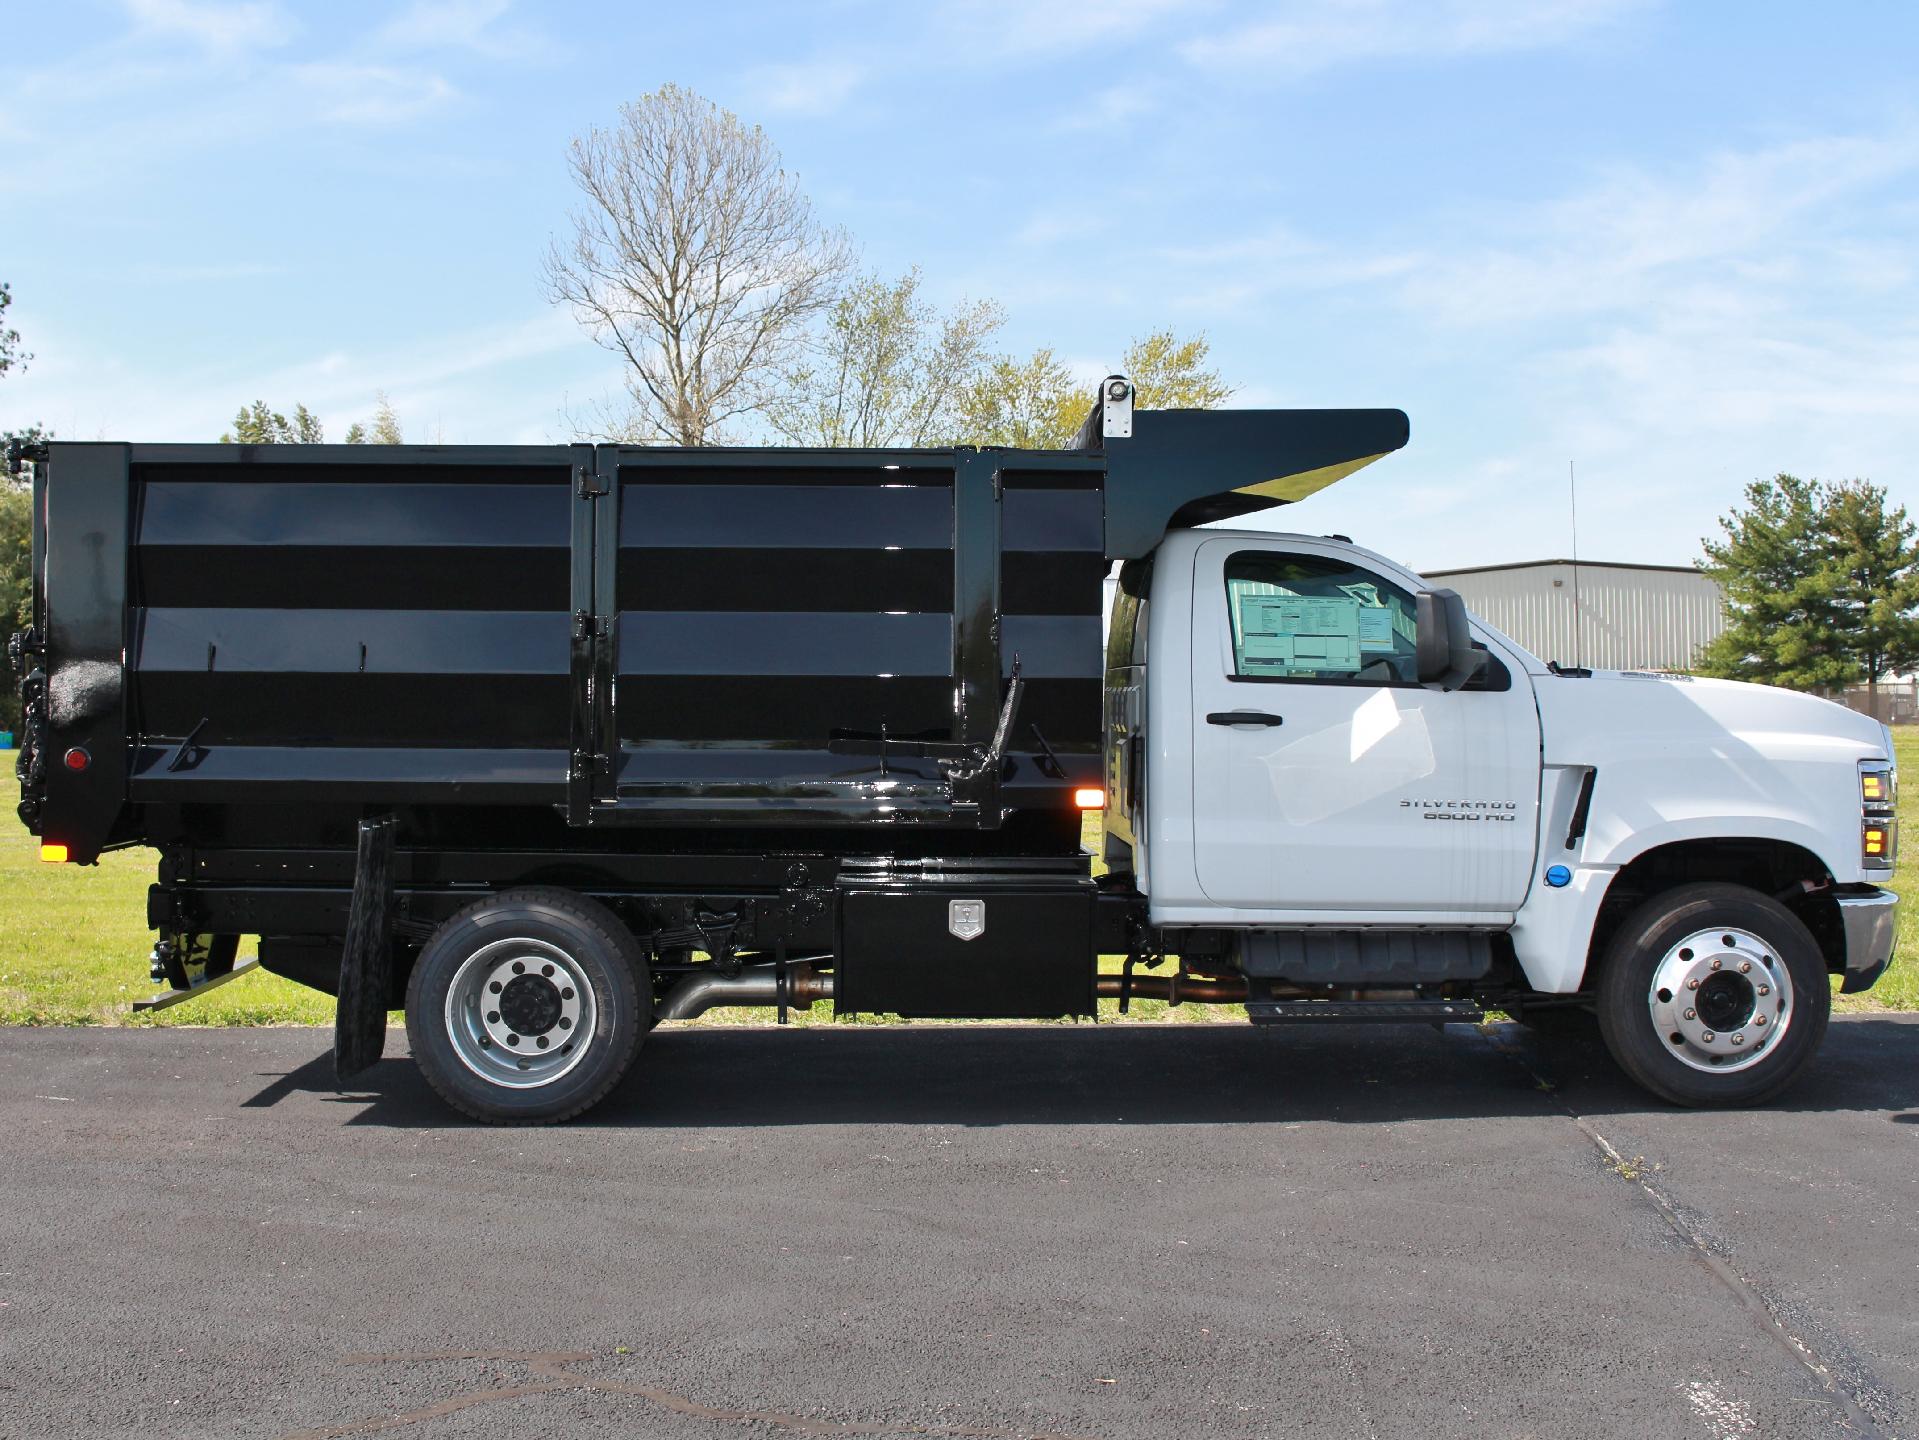
<instances>
[{"instance_id":1,"label":"silver rim of the front wheel, beneath the white fender","mask_svg":"<svg viewBox=\"0 0 1919 1440\"><path fill-rule=\"evenodd\" d=\"M1748 929L1700 929L1652 968L1647 1010L1673 1058L1727 1075L1779 1048L1792 1025L1792 973Z\"/></svg>"}]
</instances>

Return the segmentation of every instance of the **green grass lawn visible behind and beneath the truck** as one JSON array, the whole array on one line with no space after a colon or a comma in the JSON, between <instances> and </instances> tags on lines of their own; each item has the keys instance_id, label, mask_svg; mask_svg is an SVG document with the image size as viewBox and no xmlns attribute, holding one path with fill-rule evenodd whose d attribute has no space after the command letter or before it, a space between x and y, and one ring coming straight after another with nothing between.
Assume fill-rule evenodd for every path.
<instances>
[{"instance_id":1,"label":"green grass lawn visible behind and beneath the truck","mask_svg":"<svg viewBox=\"0 0 1919 1440\"><path fill-rule=\"evenodd\" d=\"M1919 1010L1919 730L1894 732L1900 770L1900 868L1892 889L1900 906L1900 939L1892 970L1865 995L1842 996L1842 1010ZM1088 820L1088 843L1098 854L1098 829ZM0 824L0 1023L4 1025L319 1025L332 1023L332 996L278 975L253 972L205 998L134 1016L132 1002L154 993L146 956L154 935L146 927L146 887L154 879L152 851L121 851L98 866L40 864L27 831ZM253 943L240 947L242 956ZM1119 972L1119 956L1100 968ZM706 1023L764 1023L762 1008L722 1008ZM1117 1000L1100 1000L1102 1020L1119 1020ZM1140 1023L1217 1023L1242 1020L1240 1006L1134 1000L1128 1020ZM831 1004L794 1012L796 1023L835 1023ZM873 1018L865 1023L888 1023ZM958 1023L958 1021L956 1021Z\"/></svg>"}]
</instances>

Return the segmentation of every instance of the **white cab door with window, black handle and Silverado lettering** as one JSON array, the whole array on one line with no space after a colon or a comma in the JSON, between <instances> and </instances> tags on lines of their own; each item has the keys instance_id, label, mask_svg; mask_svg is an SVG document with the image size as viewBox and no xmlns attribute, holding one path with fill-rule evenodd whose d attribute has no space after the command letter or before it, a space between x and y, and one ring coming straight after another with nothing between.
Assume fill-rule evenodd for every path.
<instances>
[{"instance_id":1,"label":"white cab door with window, black handle and Silverado lettering","mask_svg":"<svg viewBox=\"0 0 1919 1440\"><path fill-rule=\"evenodd\" d=\"M1194 837L1230 908L1518 908L1539 716L1487 657L1420 685L1414 591L1338 545L1209 540L1194 559Z\"/></svg>"}]
</instances>

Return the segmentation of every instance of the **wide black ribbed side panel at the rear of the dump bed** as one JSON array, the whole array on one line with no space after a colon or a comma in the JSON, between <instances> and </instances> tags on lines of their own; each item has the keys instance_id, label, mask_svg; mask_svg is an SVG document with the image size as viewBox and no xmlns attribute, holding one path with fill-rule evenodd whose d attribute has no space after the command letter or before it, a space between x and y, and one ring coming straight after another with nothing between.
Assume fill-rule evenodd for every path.
<instances>
[{"instance_id":1,"label":"wide black ribbed side panel at the rear of the dump bed","mask_svg":"<svg viewBox=\"0 0 1919 1440\"><path fill-rule=\"evenodd\" d=\"M580 455L134 447L130 799L562 804Z\"/></svg>"}]
</instances>

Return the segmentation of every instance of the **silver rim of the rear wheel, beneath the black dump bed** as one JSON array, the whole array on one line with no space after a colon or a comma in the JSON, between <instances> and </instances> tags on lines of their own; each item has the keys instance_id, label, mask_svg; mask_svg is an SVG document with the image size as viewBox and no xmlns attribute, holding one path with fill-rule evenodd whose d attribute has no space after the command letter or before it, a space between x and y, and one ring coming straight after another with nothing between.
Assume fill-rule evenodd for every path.
<instances>
[{"instance_id":1,"label":"silver rim of the rear wheel, beneath the black dump bed","mask_svg":"<svg viewBox=\"0 0 1919 1440\"><path fill-rule=\"evenodd\" d=\"M593 1048L599 995L566 950L522 935L474 950L447 987L447 1039L474 1075L532 1091Z\"/></svg>"}]
</instances>

